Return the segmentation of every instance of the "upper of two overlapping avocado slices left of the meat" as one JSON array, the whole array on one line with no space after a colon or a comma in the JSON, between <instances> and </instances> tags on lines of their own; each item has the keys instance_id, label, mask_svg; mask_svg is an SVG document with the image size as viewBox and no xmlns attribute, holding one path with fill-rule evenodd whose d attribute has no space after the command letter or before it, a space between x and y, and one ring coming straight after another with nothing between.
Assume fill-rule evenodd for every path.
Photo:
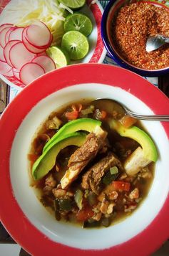
<instances>
[{"instance_id":1,"label":"upper of two overlapping avocado slices left of the meat","mask_svg":"<svg viewBox=\"0 0 169 256\"><path fill-rule=\"evenodd\" d=\"M72 120L63 125L58 132L51 137L50 141L48 141L43 147L43 152L46 151L53 141L60 141L60 136L65 136L68 133L74 133L76 131L88 131L91 133L95 131L96 126L101 126L101 121L92 118L79 118Z\"/></svg>"}]
</instances>

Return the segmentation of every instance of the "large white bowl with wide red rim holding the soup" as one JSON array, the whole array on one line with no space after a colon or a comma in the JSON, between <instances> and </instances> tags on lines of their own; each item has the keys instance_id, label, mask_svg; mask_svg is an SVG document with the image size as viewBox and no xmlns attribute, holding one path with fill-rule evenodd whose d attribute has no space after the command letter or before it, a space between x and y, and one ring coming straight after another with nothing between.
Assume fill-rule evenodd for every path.
<instances>
[{"instance_id":1,"label":"large white bowl with wide red rim holding the soup","mask_svg":"<svg viewBox=\"0 0 169 256\"><path fill-rule=\"evenodd\" d=\"M31 255L150 255L169 237L169 123L143 121L159 158L148 196L130 217L108 228L57 222L29 186L27 153L39 125L61 105L82 98L113 98L142 114L168 114L169 100L121 67L72 65L28 85L1 116L0 219Z\"/></svg>"}]
</instances>

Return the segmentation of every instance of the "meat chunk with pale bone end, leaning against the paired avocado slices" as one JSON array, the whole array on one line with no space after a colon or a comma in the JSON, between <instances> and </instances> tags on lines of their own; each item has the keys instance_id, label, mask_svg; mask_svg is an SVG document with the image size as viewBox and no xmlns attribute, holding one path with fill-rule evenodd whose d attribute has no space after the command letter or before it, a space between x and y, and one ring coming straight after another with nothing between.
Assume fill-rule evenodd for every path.
<instances>
[{"instance_id":1,"label":"meat chunk with pale bone end, leaning against the paired avocado slices","mask_svg":"<svg viewBox=\"0 0 169 256\"><path fill-rule=\"evenodd\" d=\"M65 189L68 185L74 181L78 174L84 169L84 167L91 161L98 151L105 145L105 138L107 133L98 126L96 133L90 133L86 137L86 141L78 148L73 155L71 155L68 161L68 170L61 179L61 187Z\"/></svg>"}]
</instances>

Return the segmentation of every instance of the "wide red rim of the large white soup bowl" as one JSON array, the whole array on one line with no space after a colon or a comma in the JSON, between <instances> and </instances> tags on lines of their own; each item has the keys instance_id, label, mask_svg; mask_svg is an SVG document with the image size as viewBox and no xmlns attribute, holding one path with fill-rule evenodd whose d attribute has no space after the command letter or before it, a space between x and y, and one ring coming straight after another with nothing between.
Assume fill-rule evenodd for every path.
<instances>
[{"instance_id":1,"label":"wide red rim of the large white soup bowl","mask_svg":"<svg viewBox=\"0 0 169 256\"><path fill-rule=\"evenodd\" d=\"M158 88L139 75L135 75L133 72L124 70L121 67L98 64L71 65L39 77L16 96L1 116L1 222L11 236L14 237L14 240L32 255L56 255L56 252L62 252L63 255L80 255L80 253L83 253L83 255L99 256L106 255L108 252L115 253L117 256L126 255L126 252L130 252L130 256L148 255L148 253L157 250L169 237L169 195L158 215L143 232L140 232L127 242L106 250L80 250L51 241L29 222L29 219L26 218L14 198L9 174L9 158L12 142L19 125L40 100L63 87L82 83L98 83L98 86L99 84L111 85L121 87L126 91L130 89L130 93L153 109L154 113L168 113L169 100ZM169 123L162 124L169 138Z\"/></svg>"}]
</instances>

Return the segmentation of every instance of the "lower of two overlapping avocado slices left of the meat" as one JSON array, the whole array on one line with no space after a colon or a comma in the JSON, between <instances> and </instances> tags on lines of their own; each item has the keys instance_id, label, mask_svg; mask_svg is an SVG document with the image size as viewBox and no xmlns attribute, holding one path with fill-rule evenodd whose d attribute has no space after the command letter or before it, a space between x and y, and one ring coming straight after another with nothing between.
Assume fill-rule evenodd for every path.
<instances>
[{"instance_id":1,"label":"lower of two overlapping avocado slices left of the meat","mask_svg":"<svg viewBox=\"0 0 169 256\"><path fill-rule=\"evenodd\" d=\"M48 171L55 165L56 157L61 149L71 145L82 146L85 140L85 133L68 133L60 137L59 141L53 141L34 163L32 167L34 179L41 179L48 174Z\"/></svg>"}]
</instances>

